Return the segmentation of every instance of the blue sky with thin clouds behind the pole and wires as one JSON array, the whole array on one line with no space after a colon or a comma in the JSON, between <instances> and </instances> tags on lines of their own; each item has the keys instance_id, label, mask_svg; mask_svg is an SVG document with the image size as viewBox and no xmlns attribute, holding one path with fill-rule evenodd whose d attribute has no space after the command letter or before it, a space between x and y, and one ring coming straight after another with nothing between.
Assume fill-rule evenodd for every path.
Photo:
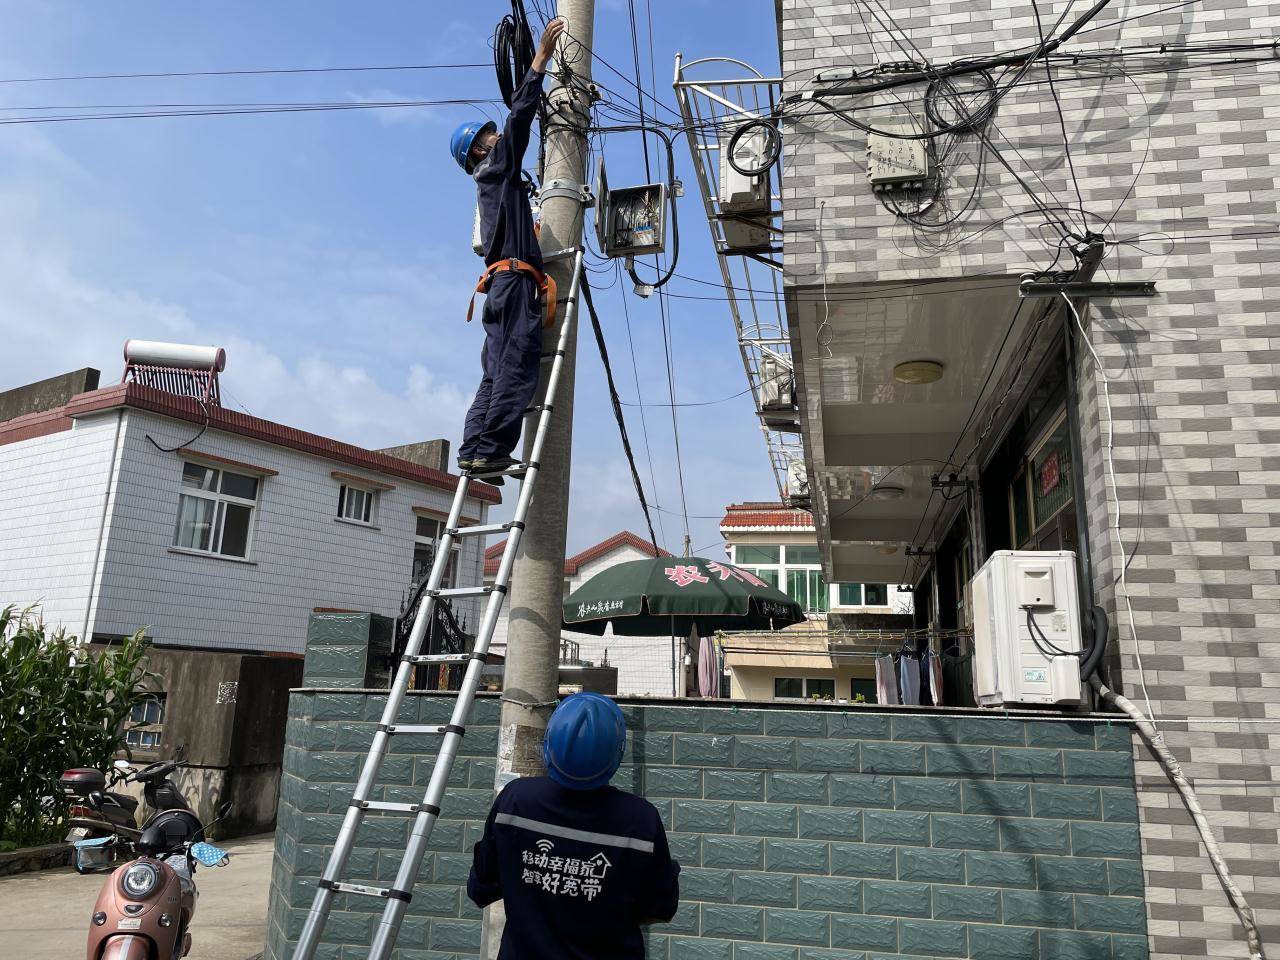
<instances>
[{"instance_id":1,"label":"blue sky with thin clouds behind the pole and wires","mask_svg":"<svg viewBox=\"0 0 1280 960\"><path fill-rule=\"evenodd\" d=\"M773 4L652 0L655 90L672 61L728 55L777 69ZM643 0L636 3L644 31ZM0 81L84 74L489 63L507 3L0 4ZM644 33L641 33L644 40ZM630 76L627 5L602 0L596 52ZM641 42L645 83L648 44ZM596 64L618 93L630 87ZM630 91L634 93L634 91ZM14 108L497 97L492 68L0 83ZM497 109L497 108L493 108ZM447 138L472 108L4 124L0 389L79 366L114 381L129 337L219 343L228 406L366 447L456 442L479 378L463 321L480 262L474 195ZM684 140L680 271L716 279ZM643 180L636 134L605 138L614 186ZM530 164L531 165L531 164ZM603 285L600 278L598 287ZM722 293L675 280L673 293ZM596 303L623 399L636 399L622 287ZM630 285L627 285L630 291ZM667 402L655 300L627 293L640 394ZM673 298L677 401L745 389L727 306ZM644 532L599 357L584 326L570 552ZM749 397L678 411L695 548L719 552L724 504L776 497ZM627 408L649 485L640 411ZM648 411L666 545L682 536L669 411ZM653 493L650 492L650 497ZM709 517L709 518L698 518Z\"/></svg>"}]
</instances>

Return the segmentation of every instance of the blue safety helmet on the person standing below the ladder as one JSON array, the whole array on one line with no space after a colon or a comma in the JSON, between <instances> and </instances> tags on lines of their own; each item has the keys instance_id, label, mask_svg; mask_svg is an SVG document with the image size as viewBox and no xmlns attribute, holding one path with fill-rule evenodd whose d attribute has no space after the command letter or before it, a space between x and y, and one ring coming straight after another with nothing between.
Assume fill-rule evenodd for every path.
<instances>
[{"instance_id":1,"label":"blue safety helmet on the person standing below the ladder","mask_svg":"<svg viewBox=\"0 0 1280 960\"><path fill-rule=\"evenodd\" d=\"M627 722L618 705L600 694L573 694L547 724L543 763L562 787L595 790L617 773L626 748Z\"/></svg>"}]
</instances>

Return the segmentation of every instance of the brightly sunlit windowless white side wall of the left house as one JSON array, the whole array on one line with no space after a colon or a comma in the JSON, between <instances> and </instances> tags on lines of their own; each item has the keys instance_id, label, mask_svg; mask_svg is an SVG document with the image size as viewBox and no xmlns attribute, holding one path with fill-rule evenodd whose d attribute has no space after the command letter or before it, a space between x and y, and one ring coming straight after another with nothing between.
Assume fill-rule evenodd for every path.
<instances>
[{"instance_id":1,"label":"brightly sunlit windowless white side wall of the left house","mask_svg":"<svg viewBox=\"0 0 1280 960\"><path fill-rule=\"evenodd\" d=\"M40 603L50 625L84 635L99 535L114 494L113 458L124 433L120 416L0 445L0 605Z\"/></svg>"}]
</instances>

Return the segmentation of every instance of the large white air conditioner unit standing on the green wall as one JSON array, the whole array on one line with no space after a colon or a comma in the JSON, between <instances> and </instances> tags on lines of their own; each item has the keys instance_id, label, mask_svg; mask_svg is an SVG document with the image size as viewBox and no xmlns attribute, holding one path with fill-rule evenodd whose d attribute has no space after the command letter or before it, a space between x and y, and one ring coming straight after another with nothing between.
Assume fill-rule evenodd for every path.
<instances>
[{"instance_id":1,"label":"large white air conditioner unit standing on the green wall","mask_svg":"<svg viewBox=\"0 0 1280 960\"><path fill-rule=\"evenodd\" d=\"M1080 703L1074 553L997 550L974 575L969 593L980 707Z\"/></svg>"}]
</instances>

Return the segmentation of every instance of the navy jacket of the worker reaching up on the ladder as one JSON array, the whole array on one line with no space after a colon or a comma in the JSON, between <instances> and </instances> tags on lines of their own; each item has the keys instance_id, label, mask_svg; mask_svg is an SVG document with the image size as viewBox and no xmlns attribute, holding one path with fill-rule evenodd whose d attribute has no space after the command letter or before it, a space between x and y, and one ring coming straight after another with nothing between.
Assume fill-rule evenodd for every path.
<instances>
[{"instance_id":1,"label":"navy jacket of the worker reaching up on the ladder","mask_svg":"<svg viewBox=\"0 0 1280 960\"><path fill-rule=\"evenodd\" d=\"M480 242L485 264L516 257L543 269L543 255L534 237L534 215L520 179L529 132L543 95L543 74L530 70L511 97L511 113L502 137L475 172L480 201Z\"/></svg>"}]
</instances>

